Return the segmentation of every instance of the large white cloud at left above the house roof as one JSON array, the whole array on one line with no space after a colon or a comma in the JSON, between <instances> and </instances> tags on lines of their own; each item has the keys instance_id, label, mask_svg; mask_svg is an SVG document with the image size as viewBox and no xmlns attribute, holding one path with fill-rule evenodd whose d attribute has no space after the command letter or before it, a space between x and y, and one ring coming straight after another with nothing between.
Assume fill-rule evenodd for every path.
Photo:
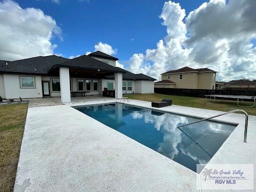
<instances>
[{"instance_id":1,"label":"large white cloud at left above the house roof","mask_svg":"<svg viewBox=\"0 0 256 192\"><path fill-rule=\"evenodd\" d=\"M61 37L56 21L36 8L21 8L12 0L0 2L0 59L16 60L49 55L57 46L50 42Z\"/></svg>"}]
</instances>

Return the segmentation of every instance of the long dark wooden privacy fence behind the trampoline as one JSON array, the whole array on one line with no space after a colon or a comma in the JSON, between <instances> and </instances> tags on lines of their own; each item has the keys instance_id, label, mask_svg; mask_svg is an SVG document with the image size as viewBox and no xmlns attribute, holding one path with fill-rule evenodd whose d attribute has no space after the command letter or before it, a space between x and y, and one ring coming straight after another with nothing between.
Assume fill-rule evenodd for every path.
<instances>
[{"instance_id":1,"label":"long dark wooden privacy fence behind the trampoline","mask_svg":"<svg viewBox=\"0 0 256 192\"><path fill-rule=\"evenodd\" d=\"M179 96L205 97L205 94L247 95L256 96L256 90L225 90L225 89L189 89L189 88L154 88L155 93Z\"/></svg>"}]
</instances>

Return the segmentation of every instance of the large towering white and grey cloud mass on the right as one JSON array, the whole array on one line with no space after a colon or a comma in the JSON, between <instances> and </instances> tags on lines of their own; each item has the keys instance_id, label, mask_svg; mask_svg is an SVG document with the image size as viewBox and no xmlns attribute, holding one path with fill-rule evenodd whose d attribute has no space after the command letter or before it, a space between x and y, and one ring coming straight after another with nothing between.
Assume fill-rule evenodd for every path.
<instances>
[{"instance_id":1,"label":"large towering white and grey cloud mass on the right","mask_svg":"<svg viewBox=\"0 0 256 192\"><path fill-rule=\"evenodd\" d=\"M165 2L160 14L167 35L156 48L133 54L128 69L160 79L160 73L183 66L217 70L218 80L255 78L255 0L210 0L188 13Z\"/></svg>"}]
</instances>

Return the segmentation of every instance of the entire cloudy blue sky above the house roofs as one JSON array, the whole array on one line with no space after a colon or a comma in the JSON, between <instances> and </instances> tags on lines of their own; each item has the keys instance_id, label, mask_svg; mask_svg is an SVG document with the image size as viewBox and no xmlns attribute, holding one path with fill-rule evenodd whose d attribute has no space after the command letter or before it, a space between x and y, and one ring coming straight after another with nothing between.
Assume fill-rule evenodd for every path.
<instances>
[{"instance_id":1,"label":"entire cloudy blue sky above the house roofs","mask_svg":"<svg viewBox=\"0 0 256 192\"><path fill-rule=\"evenodd\" d=\"M255 9L255 0L0 0L0 59L101 50L156 79L184 66L254 79Z\"/></svg>"}]
</instances>

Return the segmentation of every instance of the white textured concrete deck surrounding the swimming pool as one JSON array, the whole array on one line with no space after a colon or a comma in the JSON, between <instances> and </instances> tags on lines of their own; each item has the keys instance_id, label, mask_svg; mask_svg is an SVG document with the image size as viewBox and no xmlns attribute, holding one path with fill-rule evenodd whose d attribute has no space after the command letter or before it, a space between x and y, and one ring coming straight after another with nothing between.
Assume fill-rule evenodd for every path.
<instances>
[{"instance_id":1,"label":"white textured concrete deck surrounding the swimming pool","mask_svg":"<svg viewBox=\"0 0 256 192\"><path fill-rule=\"evenodd\" d=\"M192 170L71 107L114 101L28 108L14 192L198 191ZM152 108L147 101L128 104ZM221 113L177 105L157 110L198 117ZM238 125L209 163L255 165L256 116L249 115L247 143L243 114L217 119Z\"/></svg>"}]
</instances>

